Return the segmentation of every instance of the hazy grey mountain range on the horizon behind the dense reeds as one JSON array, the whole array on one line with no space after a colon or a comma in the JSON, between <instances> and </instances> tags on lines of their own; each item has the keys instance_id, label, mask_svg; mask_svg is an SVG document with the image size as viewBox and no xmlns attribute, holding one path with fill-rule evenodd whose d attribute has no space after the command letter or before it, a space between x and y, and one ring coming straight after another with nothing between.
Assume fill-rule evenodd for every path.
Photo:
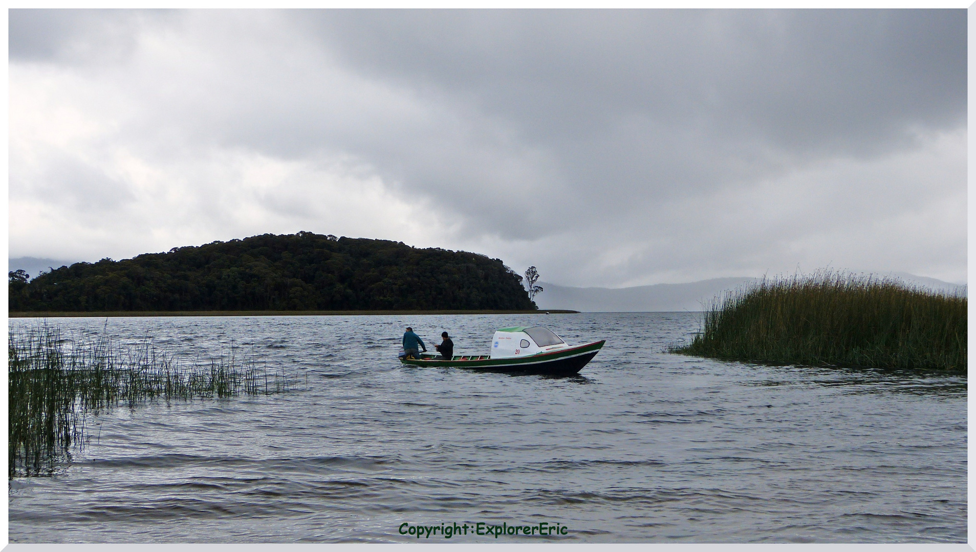
<instances>
[{"instance_id":1,"label":"hazy grey mountain range on the horizon behind the dense reeds","mask_svg":"<svg viewBox=\"0 0 976 552\"><path fill-rule=\"evenodd\" d=\"M861 272L859 274L867 274ZM966 287L907 272L874 273L947 294L966 294ZM540 309L573 309L583 312L700 311L722 292L757 282L758 278L715 278L688 284L657 284L634 288L571 288L540 282L545 290L536 296Z\"/></svg>"}]
</instances>

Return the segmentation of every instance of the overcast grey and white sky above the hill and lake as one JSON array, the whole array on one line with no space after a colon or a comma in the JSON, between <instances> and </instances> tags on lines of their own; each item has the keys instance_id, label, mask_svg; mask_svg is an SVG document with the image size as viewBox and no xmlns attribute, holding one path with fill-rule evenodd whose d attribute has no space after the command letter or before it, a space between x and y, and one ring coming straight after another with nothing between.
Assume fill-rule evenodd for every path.
<instances>
[{"instance_id":1,"label":"overcast grey and white sky above the hill and lake","mask_svg":"<svg viewBox=\"0 0 976 552\"><path fill-rule=\"evenodd\" d=\"M623 287L966 278L966 14L10 12L10 255L307 230Z\"/></svg>"}]
</instances>

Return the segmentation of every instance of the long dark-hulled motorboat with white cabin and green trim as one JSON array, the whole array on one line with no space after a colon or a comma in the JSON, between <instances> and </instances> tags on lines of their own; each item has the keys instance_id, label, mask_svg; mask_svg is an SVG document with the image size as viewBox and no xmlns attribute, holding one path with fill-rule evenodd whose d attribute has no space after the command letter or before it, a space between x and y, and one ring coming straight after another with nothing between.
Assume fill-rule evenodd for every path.
<instances>
[{"instance_id":1,"label":"long dark-hulled motorboat with white cabin and green trim","mask_svg":"<svg viewBox=\"0 0 976 552\"><path fill-rule=\"evenodd\" d=\"M421 353L400 362L411 366L468 368L519 374L575 375L587 366L606 340L570 346L542 326L502 328L492 337L487 355L454 355L450 360L436 353Z\"/></svg>"}]
</instances>

